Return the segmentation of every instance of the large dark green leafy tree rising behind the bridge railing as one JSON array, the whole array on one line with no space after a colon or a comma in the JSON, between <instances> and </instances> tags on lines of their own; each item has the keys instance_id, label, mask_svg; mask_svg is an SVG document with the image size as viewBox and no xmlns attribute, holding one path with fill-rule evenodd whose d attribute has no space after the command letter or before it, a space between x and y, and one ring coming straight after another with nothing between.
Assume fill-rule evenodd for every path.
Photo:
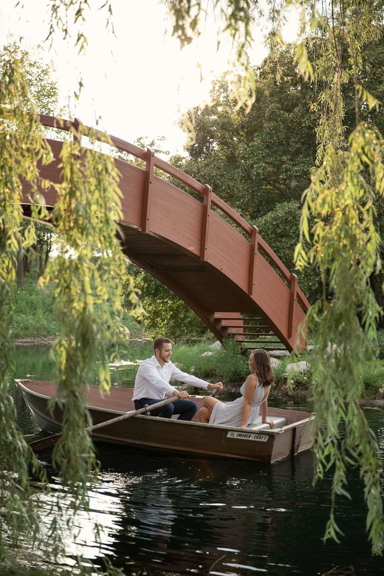
<instances>
[{"instance_id":1,"label":"large dark green leafy tree rising behind the bridge railing","mask_svg":"<svg viewBox=\"0 0 384 576\"><path fill-rule=\"evenodd\" d=\"M253 69L255 102L249 112L231 97L231 78L216 81L212 105L189 111L195 143L188 157L172 159L249 221L277 203L300 200L316 157L316 118L310 112L313 86L298 76L294 47ZM282 169L284 166L284 169Z\"/></svg>"}]
</instances>

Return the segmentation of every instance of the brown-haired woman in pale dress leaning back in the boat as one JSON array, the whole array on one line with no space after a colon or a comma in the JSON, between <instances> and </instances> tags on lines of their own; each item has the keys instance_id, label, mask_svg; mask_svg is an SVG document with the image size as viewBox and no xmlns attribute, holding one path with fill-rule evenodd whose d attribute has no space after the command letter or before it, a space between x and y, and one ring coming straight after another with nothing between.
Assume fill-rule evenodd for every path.
<instances>
[{"instance_id":1,"label":"brown-haired woman in pale dress leaning back in the boat","mask_svg":"<svg viewBox=\"0 0 384 576\"><path fill-rule=\"evenodd\" d=\"M212 396L204 398L199 410L200 422L246 428L260 412L263 423L273 428L267 420L267 398L273 384L273 372L267 350L253 350L248 360L250 374L240 388L241 397L233 402L221 402Z\"/></svg>"}]
</instances>

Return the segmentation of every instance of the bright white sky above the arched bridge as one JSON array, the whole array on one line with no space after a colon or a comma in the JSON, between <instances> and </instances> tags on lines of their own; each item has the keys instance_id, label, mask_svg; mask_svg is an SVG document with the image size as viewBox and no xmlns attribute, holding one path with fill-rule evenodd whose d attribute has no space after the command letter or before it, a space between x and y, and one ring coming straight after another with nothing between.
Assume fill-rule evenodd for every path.
<instances>
[{"instance_id":1,"label":"bright white sky above the arched bridge","mask_svg":"<svg viewBox=\"0 0 384 576\"><path fill-rule=\"evenodd\" d=\"M61 104L70 102L83 124L96 126L101 118L100 129L113 136L132 143L142 137L145 145L164 137L163 150L183 153L186 138L177 121L208 100L212 79L229 67L230 44L222 42L217 51L216 23L211 19L204 22L199 41L180 50L158 0L113 0L113 35L105 29L107 13L97 10L104 1L89 4L85 56L77 54L73 38L64 41L57 34L51 50L44 43L48 0L1 0L0 43L14 40L26 48L42 44L44 56L55 65ZM293 30L286 30L290 40ZM257 65L267 54L260 28L254 40L251 58ZM71 96L80 77L85 88L75 103Z\"/></svg>"}]
</instances>

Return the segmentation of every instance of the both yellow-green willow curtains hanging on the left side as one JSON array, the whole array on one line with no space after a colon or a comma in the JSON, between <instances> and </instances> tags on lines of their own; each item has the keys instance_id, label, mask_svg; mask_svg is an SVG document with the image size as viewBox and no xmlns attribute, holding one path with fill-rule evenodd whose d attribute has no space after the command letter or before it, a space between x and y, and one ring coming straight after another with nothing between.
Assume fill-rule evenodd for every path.
<instances>
[{"instance_id":1,"label":"both yellow-green willow curtains hanging on the left side","mask_svg":"<svg viewBox=\"0 0 384 576\"><path fill-rule=\"evenodd\" d=\"M86 135L92 146L92 131ZM126 275L117 228L121 219L119 174L112 157L82 149L81 134L75 128L72 136L62 144L60 184L41 179L39 165L49 164L54 156L39 124L15 46L3 62L0 78L0 555L10 561L13 547L17 550L33 544L52 558L64 551L59 498L50 495L43 502L39 497L42 490L49 492L48 481L17 428L9 393L13 367L10 294L16 280L16 256L20 248L28 249L36 242L33 221L22 234L22 190L26 184L32 217L53 223L59 238L58 256L48 264L41 285L55 285L62 327L53 353L58 396L64 400L64 433L53 461L71 503L64 514L67 527L73 525L79 507L88 509L88 489L97 479L93 443L85 431L91 424L83 401L89 384L87 374L98 363L101 392L108 393L111 350L127 336L117 282ZM52 213L43 198L44 190L50 187L57 193ZM31 484L31 473L39 481L37 490L35 482ZM51 502L51 526L42 520L39 502L44 503L45 514ZM97 539L98 526L94 528ZM80 565L78 569L87 570Z\"/></svg>"}]
</instances>

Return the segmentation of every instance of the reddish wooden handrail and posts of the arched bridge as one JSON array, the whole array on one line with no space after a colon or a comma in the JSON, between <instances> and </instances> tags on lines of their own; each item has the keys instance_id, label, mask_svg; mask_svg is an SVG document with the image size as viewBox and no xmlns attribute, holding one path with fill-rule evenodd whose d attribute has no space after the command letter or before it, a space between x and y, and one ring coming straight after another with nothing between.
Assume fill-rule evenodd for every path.
<instances>
[{"instance_id":1,"label":"reddish wooden handrail and posts of the arched bridge","mask_svg":"<svg viewBox=\"0 0 384 576\"><path fill-rule=\"evenodd\" d=\"M212 192L211 187L208 184L201 184L191 176L185 174L182 170L172 166L165 160L155 156L150 148L146 150L135 146L129 142L126 142L115 136L106 134L96 128L90 128L85 126L78 120L63 120L56 118L55 116L47 116L44 114L37 115L37 120L46 127L58 128L59 130L72 132L74 140L81 144L82 136L97 140L102 143L108 143L118 150L124 151L131 156L139 158L146 163L146 178L145 178L145 190L143 199L143 217L142 217L142 229L147 231L149 222L149 210L150 210L150 193L151 193L151 183L154 176L154 169L157 168L165 172L172 178L178 180L180 183L186 185L191 190L197 192L203 197L203 223L201 226L201 246L200 246L200 259L206 260L206 243L209 233L209 223L210 223L210 211L212 210L212 205L216 206L223 214L225 214L238 226L250 240L250 261L249 261L249 285L248 293L253 295L254 286L256 285L256 258L261 252L265 257L267 257L269 264L275 268L275 270L282 276L284 281L290 287L290 311L288 317L288 338L292 336L293 328L293 317L294 317L294 306L295 302L298 301L304 312L310 307L309 301L303 294L302 290L298 286L296 274L292 274L279 257L273 252L273 250L268 246L267 242L258 234L258 229L256 226L251 226L245 221L235 210L233 210L226 202L216 196Z\"/></svg>"}]
</instances>

